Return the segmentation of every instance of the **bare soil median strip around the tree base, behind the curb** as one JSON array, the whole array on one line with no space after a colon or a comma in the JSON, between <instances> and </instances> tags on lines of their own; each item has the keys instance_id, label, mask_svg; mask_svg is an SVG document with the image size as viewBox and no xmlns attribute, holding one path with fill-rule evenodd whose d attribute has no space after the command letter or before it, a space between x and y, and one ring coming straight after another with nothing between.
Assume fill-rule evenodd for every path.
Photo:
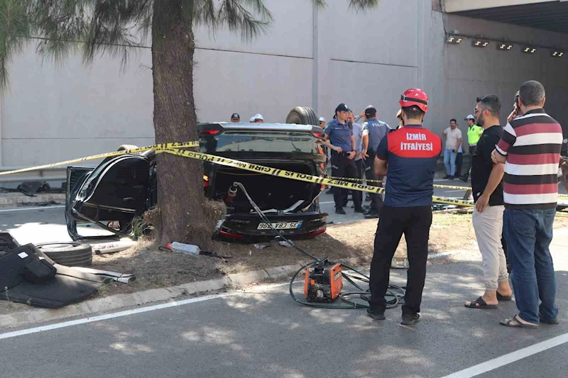
<instances>
[{"instance_id":1,"label":"bare soil median strip around the tree base, behind the curb","mask_svg":"<svg viewBox=\"0 0 568 378\"><path fill-rule=\"evenodd\" d=\"M362 265L371 261L377 221L364 220L354 223L330 225L327 233L311 240L295 243L316 257L339 260L359 257ZM435 214L430 230L430 253L451 250L475 250L475 235L471 226L471 214ZM405 252L406 243L401 240L399 252ZM226 260L208 256L187 256L164 252L142 242L125 252L94 257L93 267L115 272L136 274L131 284L111 284L102 295L128 293L144 289L169 287L204 279L215 279L225 274L248 272L268 267L303 264L310 257L294 248L278 243L262 250L254 245L214 243L212 252L227 257Z\"/></svg>"}]
</instances>

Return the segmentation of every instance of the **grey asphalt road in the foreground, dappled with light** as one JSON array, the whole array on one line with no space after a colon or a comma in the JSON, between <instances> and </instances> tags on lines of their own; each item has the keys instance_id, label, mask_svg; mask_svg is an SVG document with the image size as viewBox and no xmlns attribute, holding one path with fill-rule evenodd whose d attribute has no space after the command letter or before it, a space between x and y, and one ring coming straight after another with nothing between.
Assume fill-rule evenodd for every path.
<instances>
[{"instance_id":1,"label":"grey asphalt road in the foreground, dappled with light","mask_svg":"<svg viewBox=\"0 0 568 378\"><path fill-rule=\"evenodd\" d=\"M413 327L400 325L400 308L387 311L386 321L372 321L364 310L295 304L287 286L256 287L41 333L0 334L0 375L468 378L485 372L481 377L566 377L568 257L562 245L568 233L563 238L553 247L562 311L558 326L500 326L498 321L515 314L514 302L494 311L464 308L464 301L482 289L477 279L481 263L464 254L430 265L422 318ZM391 273L399 284L404 275ZM551 339L557 346L543 350L539 343L546 346Z\"/></svg>"}]
</instances>

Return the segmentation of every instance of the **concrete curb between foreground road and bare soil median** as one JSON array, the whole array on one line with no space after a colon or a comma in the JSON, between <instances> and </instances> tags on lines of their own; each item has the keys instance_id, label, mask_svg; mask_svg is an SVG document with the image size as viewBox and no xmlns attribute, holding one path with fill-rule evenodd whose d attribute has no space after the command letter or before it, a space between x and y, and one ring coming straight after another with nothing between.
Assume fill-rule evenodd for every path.
<instances>
[{"instance_id":1,"label":"concrete curb between foreground road and bare soil median","mask_svg":"<svg viewBox=\"0 0 568 378\"><path fill-rule=\"evenodd\" d=\"M360 261L361 258L359 257L338 260L338 262L347 265L356 265ZM0 315L0 329L25 326L30 323L58 321L72 316L91 315L93 313L113 311L124 307L142 306L158 301L172 301L180 296L205 294L207 291L237 289L245 284L260 282L265 279L288 278L297 272L300 267L301 265L285 265L283 267L271 267L255 270L253 272L229 274L220 279L209 279L208 281L192 282L175 287L150 289L131 294L117 294L106 298L90 299L79 304L72 304L58 309L30 308L26 311Z\"/></svg>"}]
</instances>

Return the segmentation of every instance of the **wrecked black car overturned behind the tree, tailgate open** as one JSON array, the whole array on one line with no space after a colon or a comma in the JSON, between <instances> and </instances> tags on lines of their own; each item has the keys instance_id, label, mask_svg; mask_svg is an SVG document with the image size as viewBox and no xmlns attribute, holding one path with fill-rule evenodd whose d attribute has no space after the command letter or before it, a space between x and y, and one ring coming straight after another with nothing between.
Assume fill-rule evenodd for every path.
<instances>
[{"instance_id":1,"label":"wrecked black car overturned behind the tree, tailgate open","mask_svg":"<svg viewBox=\"0 0 568 378\"><path fill-rule=\"evenodd\" d=\"M323 130L317 126L204 123L198 128L202 152L292 172L324 175ZM159 167L152 150L110 157L94 169L68 167L65 217L71 238L85 238L77 232L77 222L94 223L116 235L129 236L133 219L156 206L156 174ZM256 242L275 237L244 193L233 192L234 182L244 185L272 226L286 237L310 238L325 232L327 213L320 212L318 201L321 184L204 162L205 195L224 201L227 207L226 217L219 220L216 238Z\"/></svg>"}]
</instances>

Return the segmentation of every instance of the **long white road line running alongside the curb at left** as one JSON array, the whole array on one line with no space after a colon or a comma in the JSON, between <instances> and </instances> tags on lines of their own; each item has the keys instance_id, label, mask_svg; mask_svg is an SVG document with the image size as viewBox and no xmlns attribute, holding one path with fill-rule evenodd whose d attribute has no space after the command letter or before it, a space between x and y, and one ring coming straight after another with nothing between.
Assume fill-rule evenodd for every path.
<instances>
[{"instance_id":1,"label":"long white road line running alongside the curb at left","mask_svg":"<svg viewBox=\"0 0 568 378\"><path fill-rule=\"evenodd\" d=\"M280 287L280 286L283 286L283 285L288 285L288 282L286 282L284 284L269 284L269 285L263 285L263 286L255 287L254 291L258 291L258 290L262 290L262 289L271 289L273 287ZM40 326L40 327L35 327L35 328L28 328L28 329L25 329L25 330L16 330L16 331L13 331L13 332L8 332L8 333L0 333L0 340L4 340L4 339L7 339L7 338L16 338L18 336L23 336L23 335L30 335L31 333L44 332L46 330L56 330L58 328L78 326L80 324L93 323L95 321L106 321L107 319L121 318L123 316L134 315L136 313L145 313L145 312L148 312L148 311L161 310L163 308L183 306L185 304L194 304L194 303L197 303L197 302L209 301L211 299L219 299L219 298L223 298L224 296L233 296L233 295L237 295L237 294L242 295L243 291L242 290L241 291L231 291L230 293L200 296L199 298L185 299L184 301L175 301L175 302L168 302L168 303L165 303L165 304L156 304L154 306L133 308L132 310L120 311L120 312L115 312L115 313L105 313L104 315L92 316L90 318L76 319L74 321L64 321L62 323L50 324L48 326Z\"/></svg>"}]
</instances>

